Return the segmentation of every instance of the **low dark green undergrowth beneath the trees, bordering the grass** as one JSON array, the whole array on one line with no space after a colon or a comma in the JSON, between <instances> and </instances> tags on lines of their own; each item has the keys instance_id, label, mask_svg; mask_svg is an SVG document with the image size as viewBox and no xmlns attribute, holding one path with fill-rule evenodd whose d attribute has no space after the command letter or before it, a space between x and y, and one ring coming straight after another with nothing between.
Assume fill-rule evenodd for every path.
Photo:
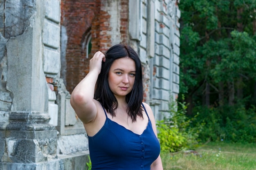
<instances>
[{"instance_id":1,"label":"low dark green undergrowth beneath the trees, bordering the grass","mask_svg":"<svg viewBox=\"0 0 256 170\"><path fill-rule=\"evenodd\" d=\"M193 111L200 112L194 123L205 123L199 134L202 141L256 142L256 108L253 105L249 108L243 104L218 108L198 106Z\"/></svg>"}]
</instances>

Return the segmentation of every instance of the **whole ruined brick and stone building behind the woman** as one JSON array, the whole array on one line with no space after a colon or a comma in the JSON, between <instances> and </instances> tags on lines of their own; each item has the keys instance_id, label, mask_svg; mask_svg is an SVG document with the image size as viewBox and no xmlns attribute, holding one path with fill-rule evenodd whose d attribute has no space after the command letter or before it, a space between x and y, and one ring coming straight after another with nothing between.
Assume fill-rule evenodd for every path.
<instances>
[{"instance_id":1,"label":"whole ruined brick and stone building behind the woman","mask_svg":"<svg viewBox=\"0 0 256 170\"><path fill-rule=\"evenodd\" d=\"M96 51L139 54L156 119L179 93L178 0L0 0L0 170L85 169L70 93Z\"/></svg>"}]
</instances>

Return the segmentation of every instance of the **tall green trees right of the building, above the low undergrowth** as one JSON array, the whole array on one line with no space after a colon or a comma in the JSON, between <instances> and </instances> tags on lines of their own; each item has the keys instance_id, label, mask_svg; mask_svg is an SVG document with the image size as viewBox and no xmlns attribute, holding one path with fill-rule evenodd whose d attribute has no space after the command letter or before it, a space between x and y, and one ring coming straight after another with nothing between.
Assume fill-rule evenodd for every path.
<instances>
[{"instance_id":1,"label":"tall green trees right of the building, above the low undergrowth","mask_svg":"<svg viewBox=\"0 0 256 170\"><path fill-rule=\"evenodd\" d=\"M179 7L180 92L188 113L194 104L256 101L256 0L182 0Z\"/></svg>"}]
</instances>

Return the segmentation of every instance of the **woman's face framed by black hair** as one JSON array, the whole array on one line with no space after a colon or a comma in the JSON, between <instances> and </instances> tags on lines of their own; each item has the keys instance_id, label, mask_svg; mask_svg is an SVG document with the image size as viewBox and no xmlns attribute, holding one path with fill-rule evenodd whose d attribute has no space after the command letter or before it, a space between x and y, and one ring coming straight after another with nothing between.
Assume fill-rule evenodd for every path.
<instances>
[{"instance_id":1,"label":"woman's face framed by black hair","mask_svg":"<svg viewBox=\"0 0 256 170\"><path fill-rule=\"evenodd\" d=\"M113 62L108 72L108 84L116 98L125 97L132 91L135 82L135 61L122 57Z\"/></svg>"}]
</instances>

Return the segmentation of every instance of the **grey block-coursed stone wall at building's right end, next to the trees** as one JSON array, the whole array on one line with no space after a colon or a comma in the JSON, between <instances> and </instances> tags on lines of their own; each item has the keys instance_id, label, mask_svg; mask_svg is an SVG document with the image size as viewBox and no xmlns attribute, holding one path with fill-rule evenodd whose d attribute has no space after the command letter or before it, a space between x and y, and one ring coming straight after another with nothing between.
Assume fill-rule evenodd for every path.
<instances>
[{"instance_id":1,"label":"grey block-coursed stone wall at building's right end, next to the trees","mask_svg":"<svg viewBox=\"0 0 256 170\"><path fill-rule=\"evenodd\" d=\"M158 113L165 114L170 99L176 99L179 93L180 10L176 0L158 0L152 8L155 10L155 55L150 59L153 62L150 99ZM158 119L162 116L156 115Z\"/></svg>"}]
</instances>

